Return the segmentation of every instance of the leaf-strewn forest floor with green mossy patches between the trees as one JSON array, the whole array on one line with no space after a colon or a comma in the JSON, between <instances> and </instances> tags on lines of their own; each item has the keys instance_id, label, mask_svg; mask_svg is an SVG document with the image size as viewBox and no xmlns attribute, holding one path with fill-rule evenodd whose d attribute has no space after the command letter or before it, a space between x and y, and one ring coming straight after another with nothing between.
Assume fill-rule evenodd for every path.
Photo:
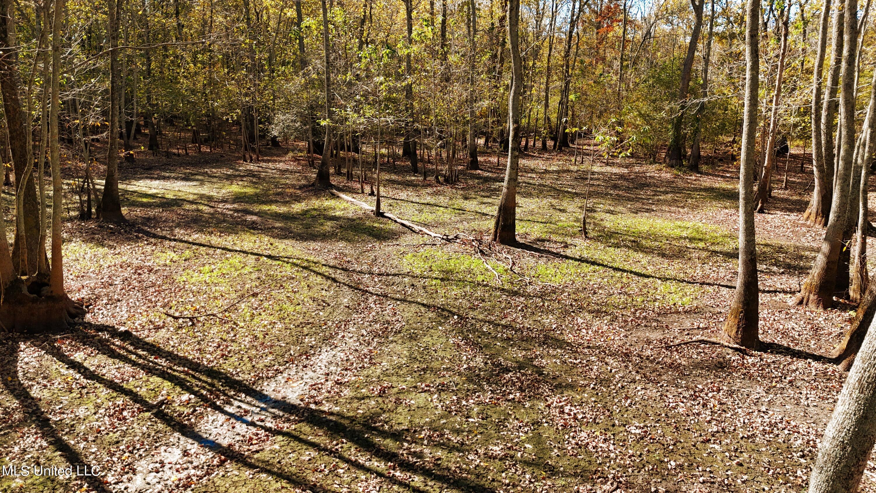
<instances>
[{"instance_id":1,"label":"leaf-strewn forest floor with green mossy patches between the trees","mask_svg":"<svg viewBox=\"0 0 876 493\"><path fill-rule=\"evenodd\" d=\"M523 157L524 244L484 250L314 189L300 147L124 163L130 222L66 223L86 323L0 354L0 462L101 475L3 476L0 490L804 489L844 380L819 354L852 307L788 306L823 235L800 220L801 156L756 217L774 345L747 354L664 347L720 334L732 164L600 160L584 239L589 161L572 159ZM383 208L480 238L504 176L494 150L482 166L447 186L399 163Z\"/></svg>"}]
</instances>

